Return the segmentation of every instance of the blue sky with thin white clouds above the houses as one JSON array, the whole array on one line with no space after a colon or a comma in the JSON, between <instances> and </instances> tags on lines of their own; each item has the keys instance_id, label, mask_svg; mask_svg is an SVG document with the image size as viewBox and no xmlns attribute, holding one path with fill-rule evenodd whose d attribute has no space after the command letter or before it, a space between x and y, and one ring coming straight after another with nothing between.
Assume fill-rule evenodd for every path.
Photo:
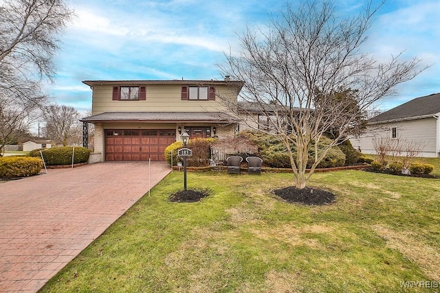
<instances>
[{"instance_id":1,"label":"blue sky with thin white clouds above the houses","mask_svg":"<svg viewBox=\"0 0 440 293\"><path fill-rule=\"evenodd\" d=\"M293 5L298 0L290 1ZM380 3L373 0L373 5ZM77 17L61 36L57 74L45 91L54 102L91 109L83 80L221 80L223 51L238 48L247 25L265 25L284 0L70 0ZM338 14L360 12L364 0L335 0ZM369 31L368 50L377 60L404 51L432 65L398 86L398 95L378 108L440 92L440 1L388 0Z\"/></svg>"}]
</instances>

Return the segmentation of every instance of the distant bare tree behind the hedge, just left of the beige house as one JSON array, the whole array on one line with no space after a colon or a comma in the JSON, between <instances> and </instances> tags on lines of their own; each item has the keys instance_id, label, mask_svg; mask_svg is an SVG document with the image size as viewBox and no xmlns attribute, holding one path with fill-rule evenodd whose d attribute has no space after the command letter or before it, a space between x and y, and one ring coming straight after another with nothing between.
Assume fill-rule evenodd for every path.
<instances>
[{"instance_id":1,"label":"distant bare tree behind the hedge, just left of the beige house","mask_svg":"<svg viewBox=\"0 0 440 293\"><path fill-rule=\"evenodd\" d=\"M80 113L72 106L51 105L43 110L45 137L63 146L81 142Z\"/></svg>"}]
</instances>

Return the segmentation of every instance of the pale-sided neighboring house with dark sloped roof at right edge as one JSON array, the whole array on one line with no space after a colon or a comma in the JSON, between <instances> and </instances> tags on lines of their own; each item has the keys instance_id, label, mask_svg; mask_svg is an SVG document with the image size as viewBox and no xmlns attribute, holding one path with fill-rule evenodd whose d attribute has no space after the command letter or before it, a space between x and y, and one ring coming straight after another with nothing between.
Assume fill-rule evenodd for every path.
<instances>
[{"instance_id":1,"label":"pale-sided neighboring house with dark sloped roof at right edge","mask_svg":"<svg viewBox=\"0 0 440 293\"><path fill-rule=\"evenodd\" d=\"M375 154L373 139L388 137L420 143L420 156L440 155L440 93L417 97L367 121L366 132L351 139L354 148Z\"/></svg>"}]
</instances>

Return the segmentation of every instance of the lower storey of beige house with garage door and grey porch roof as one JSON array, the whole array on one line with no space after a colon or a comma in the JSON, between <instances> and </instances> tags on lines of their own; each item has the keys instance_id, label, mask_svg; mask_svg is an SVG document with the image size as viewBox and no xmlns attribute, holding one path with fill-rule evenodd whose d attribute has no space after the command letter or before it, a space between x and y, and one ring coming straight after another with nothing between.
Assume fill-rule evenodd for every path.
<instances>
[{"instance_id":1,"label":"lower storey of beige house with garage door and grey porch roof","mask_svg":"<svg viewBox=\"0 0 440 293\"><path fill-rule=\"evenodd\" d=\"M96 161L165 161L165 148L180 140L234 135L232 117L220 112L109 112L86 117L94 124Z\"/></svg>"}]
</instances>

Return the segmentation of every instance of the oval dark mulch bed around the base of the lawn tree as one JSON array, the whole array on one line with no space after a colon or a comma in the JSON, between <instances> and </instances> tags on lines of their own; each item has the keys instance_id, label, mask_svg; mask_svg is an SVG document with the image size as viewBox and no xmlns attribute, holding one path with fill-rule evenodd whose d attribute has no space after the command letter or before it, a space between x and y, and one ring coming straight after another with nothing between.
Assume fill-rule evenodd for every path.
<instances>
[{"instance_id":1,"label":"oval dark mulch bed around the base of the lawn tree","mask_svg":"<svg viewBox=\"0 0 440 293\"><path fill-rule=\"evenodd\" d=\"M311 187L298 189L292 186L283 189L276 189L272 192L287 202L307 205L331 204L336 200L336 196L331 192Z\"/></svg>"}]
</instances>

